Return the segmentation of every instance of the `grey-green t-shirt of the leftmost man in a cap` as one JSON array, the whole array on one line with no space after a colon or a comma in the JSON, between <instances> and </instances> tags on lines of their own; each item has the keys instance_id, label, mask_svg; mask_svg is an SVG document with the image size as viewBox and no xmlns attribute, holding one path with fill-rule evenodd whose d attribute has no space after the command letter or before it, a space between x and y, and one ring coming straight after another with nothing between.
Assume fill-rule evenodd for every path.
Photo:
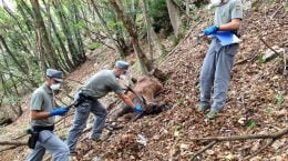
<instances>
[{"instance_id":1,"label":"grey-green t-shirt of the leftmost man in a cap","mask_svg":"<svg viewBox=\"0 0 288 161\"><path fill-rule=\"evenodd\" d=\"M30 110L51 112L55 107L52 91L45 85L38 88L31 98ZM31 120L31 125L49 127L54 124L54 117L42 120Z\"/></svg>"}]
</instances>

